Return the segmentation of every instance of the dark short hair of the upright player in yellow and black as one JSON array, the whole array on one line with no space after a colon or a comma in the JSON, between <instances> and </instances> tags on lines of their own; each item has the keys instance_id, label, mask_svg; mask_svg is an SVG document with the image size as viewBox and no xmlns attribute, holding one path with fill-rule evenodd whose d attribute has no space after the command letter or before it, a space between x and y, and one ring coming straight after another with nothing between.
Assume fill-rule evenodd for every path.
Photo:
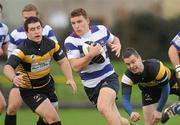
<instances>
[{"instance_id":1,"label":"dark short hair of the upright player in yellow and black","mask_svg":"<svg viewBox=\"0 0 180 125\"><path fill-rule=\"evenodd\" d=\"M41 20L38 17L29 17L25 22L24 22L24 30L28 32L28 25L31 23L37 23L39 22L41 26L43 25Z\"/></svg>"}]
</instances>

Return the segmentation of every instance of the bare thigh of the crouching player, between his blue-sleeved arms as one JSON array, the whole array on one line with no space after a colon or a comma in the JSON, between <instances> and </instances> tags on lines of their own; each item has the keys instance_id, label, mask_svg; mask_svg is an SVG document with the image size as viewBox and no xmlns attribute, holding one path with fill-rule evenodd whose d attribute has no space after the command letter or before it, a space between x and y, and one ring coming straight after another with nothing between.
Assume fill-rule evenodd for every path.
<instances>
[{"instance_id":1,"label":"bare thigh of the crouching player, between his blue-sleeved arms","mask_svg":"<svg viewBox=\"0 0 180 125\"><path fill-rule=\"evenodd\" d=\"M143 106L143 115L145 125L150 125L153 118L153 112L156 110L157 103Z\"/></svg>"}]
</instances>

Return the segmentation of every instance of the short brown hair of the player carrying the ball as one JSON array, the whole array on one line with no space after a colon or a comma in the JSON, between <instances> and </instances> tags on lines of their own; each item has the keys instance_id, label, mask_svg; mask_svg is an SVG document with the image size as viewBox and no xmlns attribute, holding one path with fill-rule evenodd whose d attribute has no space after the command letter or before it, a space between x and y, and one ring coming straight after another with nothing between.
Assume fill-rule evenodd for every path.
<instances>
[{"instance_id":1,"label":"short brown hair of the player carrying the ball","mask_svg":"<svg viewBox=\"0 0 180 125\"><path fill-rule=\"evenodd\" d=\"M71 17L76 17L76 16L83 16L84 18L89 18L86 11L82 8L77 8L71 12Z\"/></svg>"}]
</instances>

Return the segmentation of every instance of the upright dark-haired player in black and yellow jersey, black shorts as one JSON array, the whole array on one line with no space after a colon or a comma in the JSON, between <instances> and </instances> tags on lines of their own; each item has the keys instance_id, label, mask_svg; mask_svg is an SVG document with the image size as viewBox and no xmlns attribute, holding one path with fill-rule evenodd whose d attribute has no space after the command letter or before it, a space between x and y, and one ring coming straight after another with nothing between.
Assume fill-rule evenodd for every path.
<instances>
[{"instance_id":1,"label":"upright dark-haired player in black and yellow jersey, black shorts","mask_svg":"<svg viewBox=\"0 0 180 125\"><path fill-rule=\"evenodd\" d=\"M4 74L20 88L23 101L47 122L44 124L61 125L54 107L58 100L54 80L49 74L50 62L54 58L66 77L66 83L75 92L77 87L70 64L59 44L42 36L39 18L29 17L24 23L24 29L28 38L13 51L4 66Z\"/></svg>"}]
</instances>

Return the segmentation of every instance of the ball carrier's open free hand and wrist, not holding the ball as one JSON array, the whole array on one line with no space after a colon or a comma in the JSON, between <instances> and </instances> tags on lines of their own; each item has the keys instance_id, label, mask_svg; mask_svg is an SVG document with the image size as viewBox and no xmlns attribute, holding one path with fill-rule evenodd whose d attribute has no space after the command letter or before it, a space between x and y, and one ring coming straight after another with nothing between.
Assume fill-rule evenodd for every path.
<instances>
[{"instance_id":1,"label":"ball carrier's open free hand and wrist, not holding the ball","mask_svg":"<svg viewBox=\"0 0 180 125\"><path fill-rule=\"evenodd\" d=\"M121 52L121 43L118 37L114 37L114 40L109 43L109 47L111 48L112 52L115 52L115 55L117 57L120 56L120 52Z\"/></svg>"}]
</instances>

